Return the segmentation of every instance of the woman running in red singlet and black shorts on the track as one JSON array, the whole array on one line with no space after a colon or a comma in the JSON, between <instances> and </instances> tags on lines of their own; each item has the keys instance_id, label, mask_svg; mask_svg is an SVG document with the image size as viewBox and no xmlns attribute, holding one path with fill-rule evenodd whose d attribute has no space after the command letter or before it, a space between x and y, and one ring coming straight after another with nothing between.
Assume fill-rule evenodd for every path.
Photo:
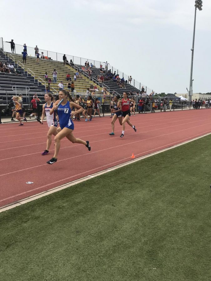
<instances>
[{"instance_id":1,"label":"woman running in red singlet and black shorts on the track","mask_svg":"<svg viewBox=\"0 0 211 281\"><path fill-rule=\"evenodd\" d=\"M128 93L123 93L123 99L122 99L122 114L123 114L123 121L122 121L122 134L121 138L124 136L124 130L125 130L125 123L127 122L128 125L130 125L133 130L136 132L135 126L133 126L129 119L130 119L130 102L133 102L133 108L135 108L135 101L128 98Z\"/></svg>"}]
</instances>

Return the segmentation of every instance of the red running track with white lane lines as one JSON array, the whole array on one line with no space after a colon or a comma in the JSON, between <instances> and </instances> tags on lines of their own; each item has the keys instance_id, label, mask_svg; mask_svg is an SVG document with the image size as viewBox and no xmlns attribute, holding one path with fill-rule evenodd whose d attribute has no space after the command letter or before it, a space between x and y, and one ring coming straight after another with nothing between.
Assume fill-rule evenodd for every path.
<instances>
[{"instance_id":1,"label":"red running track with white lane lines","mask_svg":"<svg viewBox=\"0 0 211 281\"><path fill-rule=\"evenodd\" d=\"M126 125L123 138L118 121L115 136L108 135L111 118L75 121L74 135L89 140L92 149L64 139L53 165L46 164L53 157L53 143L49 154L41 155L46 148L47 124L1 124L0 206L130 161L132 153L140 157L209 133L210 115L208 109L137 114L130 119L137 132ZM33 184L26 184L28 181Z\"/></svg>"}]
</instances>

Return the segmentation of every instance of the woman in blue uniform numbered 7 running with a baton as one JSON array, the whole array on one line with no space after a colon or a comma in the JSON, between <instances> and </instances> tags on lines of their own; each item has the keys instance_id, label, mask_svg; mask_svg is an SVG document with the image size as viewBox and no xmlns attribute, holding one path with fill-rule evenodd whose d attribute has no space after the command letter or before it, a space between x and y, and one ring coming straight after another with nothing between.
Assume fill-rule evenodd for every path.
<instances>
[{"instance_id":1,"label":"woman in blue uniform numbered 7 running with a baton","mask_svg":"<svg viewBox=\"0 0 211 281\"><path fill-rule=\"evenodd\" d=\"M81 143L85 145L88 150L91 150L91 146L89 145L89 141L83 141L81 139L77 139L73 135L74 130L74 124L71 117L75 114L83 112L83 107L79 106L73 101L68 101L69 92L65 90L59 91L59 100L55 102L55 105L50 110L50 115L53 114L54 110L57 110L58 117L59 117L59 124L60 127L57 129L58 134L55 136L55 152L53 155L53 158L51 160L47 161L48 164L53 164L57 161L58 152L60 149L60 141L66 137L69 141L72 143ZM59 101L64 99L64 101L59 105ZM77 108L77 111L72 111L72 109Z\"/></svg>"}]
</instances>

